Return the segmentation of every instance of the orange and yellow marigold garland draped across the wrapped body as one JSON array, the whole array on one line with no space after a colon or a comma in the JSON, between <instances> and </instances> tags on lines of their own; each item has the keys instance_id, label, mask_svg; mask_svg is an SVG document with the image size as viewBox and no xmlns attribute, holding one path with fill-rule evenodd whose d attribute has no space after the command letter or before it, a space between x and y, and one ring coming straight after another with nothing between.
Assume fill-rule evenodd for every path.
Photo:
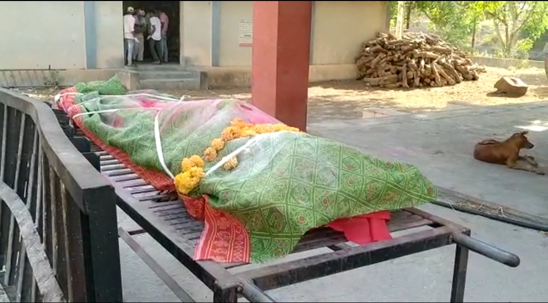
<instances>
[{"instance_id":1,"label":"orange and yellow marigold garland draped across the wrapped body","mask_svg":"<svg viewBox=\"0 0 548 303\"><path fill-rule=\"evenodd\" d=\"M283 123L277 124L250 124L243 121L242 118L233 119L230 126L222 130L221 138L216 138L211 141L211 144L204 150L203 158L193 155L190 158L184 158L181 162L181 173L175 176L174 184L177 192L181 195L187 195L196 187L206 174L204 171L204 160L207 162L214 161L218 153L225 147L226 142L238 139L255 136L258 134L276 133L283 130L289 132L300 132L296 127L289 127ZM236 157L230 158L222 167L226 170L232 170L238 165Z\"/></svg>"}]
</instances>

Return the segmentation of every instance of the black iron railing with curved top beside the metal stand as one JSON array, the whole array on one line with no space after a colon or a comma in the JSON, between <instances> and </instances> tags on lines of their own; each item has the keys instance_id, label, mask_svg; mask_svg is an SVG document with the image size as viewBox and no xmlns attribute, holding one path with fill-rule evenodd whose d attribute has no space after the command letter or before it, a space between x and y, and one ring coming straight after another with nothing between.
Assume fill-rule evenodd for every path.
<instances>
[{"instance_id":1,"label":"black iron railing with curved top beside the metal stand","mask_svg":"<svg viewBox=\"0 0 548 303\"><path fill-rule=\"evenodd\" d=\"M122 302L116 194L62 117L0 88L0 284L17 302Z\"/></svg>"}]
</instances>

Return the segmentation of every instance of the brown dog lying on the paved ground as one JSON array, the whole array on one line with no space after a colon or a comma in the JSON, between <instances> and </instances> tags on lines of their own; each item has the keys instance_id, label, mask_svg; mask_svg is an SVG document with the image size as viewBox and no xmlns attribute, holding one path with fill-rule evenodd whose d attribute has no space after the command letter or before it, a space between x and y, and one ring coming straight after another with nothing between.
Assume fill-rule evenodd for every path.
<instances>
[{"instance_id":1,"label":"brown dog lying on the paved ground","mask_svg":"<svg viewBox=\"0 0 548 303\"><path fill-rule=\"evenodd\" d=\"M536 163L533 156L520 156L522 148L530 150L534 147L525 136L528 133L527 131L514 133L504 141L487 139L478 142L474 146L474 158L487 163L506 164L508 168L527 170L544 175L544 171L538 168L539 164ZM529 165L518 161L526 161Z\"/></svg>"}]
</instances>

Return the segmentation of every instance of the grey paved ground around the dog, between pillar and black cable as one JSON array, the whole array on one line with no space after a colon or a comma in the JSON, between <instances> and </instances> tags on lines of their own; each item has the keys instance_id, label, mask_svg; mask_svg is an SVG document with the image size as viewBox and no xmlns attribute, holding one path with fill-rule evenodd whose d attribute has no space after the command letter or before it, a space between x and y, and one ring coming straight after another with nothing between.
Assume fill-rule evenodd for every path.
<instances>
[{"instance_id":1,"label":"grey paved ground around the dog, between pillar and black cable","mask_svg":"<svg viewBox=\"0 0 548 303\"><path fill-rule=\"evenodd\" d=\"M547 176L471 156L477 141L505 139L524 129L536 144L527 154L538 158L548 174L548 104L543 103L312 123L309 131L416 164L438 186L548 218Z\"/></svg>"}]
</instances>

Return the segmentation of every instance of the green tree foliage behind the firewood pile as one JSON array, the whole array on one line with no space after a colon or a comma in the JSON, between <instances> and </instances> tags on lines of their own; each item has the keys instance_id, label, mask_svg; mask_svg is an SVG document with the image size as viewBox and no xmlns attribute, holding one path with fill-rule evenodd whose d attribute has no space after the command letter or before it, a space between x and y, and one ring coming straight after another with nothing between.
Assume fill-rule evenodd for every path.
<instances>
[{"instance_id":1,"label":"green tree foliage behind the firewood pile","mask_svg":"<svg viewBox=\"0 0 548 303\"><path fill-rule=\"evenodd\" d=\"M407 1L415 13L431 21L444 40L464 48L470 45L477 22L493 22L501 56L522 57L548 28L548 2L544 1ZM391 1L392 16L397 2Z\"/></svg>"}]
</instances>

